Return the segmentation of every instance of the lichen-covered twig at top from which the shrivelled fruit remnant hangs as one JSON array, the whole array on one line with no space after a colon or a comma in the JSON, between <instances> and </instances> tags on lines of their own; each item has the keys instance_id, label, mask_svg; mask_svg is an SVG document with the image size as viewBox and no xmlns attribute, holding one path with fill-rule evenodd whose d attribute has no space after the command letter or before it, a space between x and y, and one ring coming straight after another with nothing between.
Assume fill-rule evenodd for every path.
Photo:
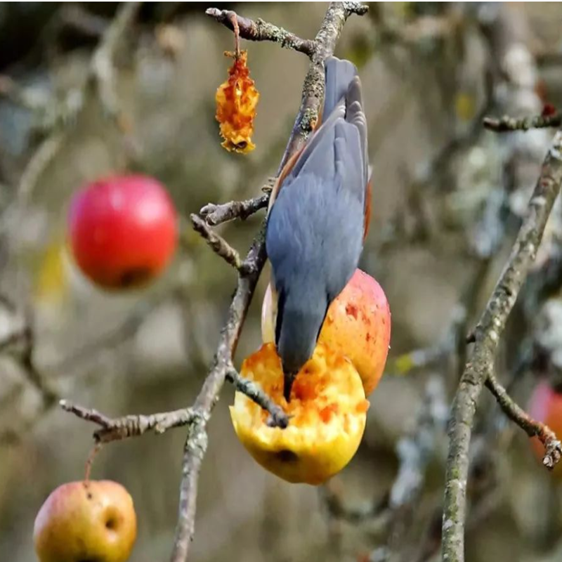
<instances>
[{"instance_id":1,"label":"lichen-covered twig at top from which the shrivelled fruit remnant hangs","mask_svg":"<svg viewBox=\"0 0 562 562\"><path fill-rule=\"evenodd\" d=\"M209 8L205 13L218 23L228 27L231 31L234 31L233 20L236 20L242 39L248 39L249 41L273 41L279 43L282 47L299 51L309 57L315 52L314 41L301 39L282 27L277 27L277 25L264 22L261 19L254 22L254 20L249 18L242 18L241 15L237 15L233 11L218 10L217 8Z\"/></svg>"}]
</instances>

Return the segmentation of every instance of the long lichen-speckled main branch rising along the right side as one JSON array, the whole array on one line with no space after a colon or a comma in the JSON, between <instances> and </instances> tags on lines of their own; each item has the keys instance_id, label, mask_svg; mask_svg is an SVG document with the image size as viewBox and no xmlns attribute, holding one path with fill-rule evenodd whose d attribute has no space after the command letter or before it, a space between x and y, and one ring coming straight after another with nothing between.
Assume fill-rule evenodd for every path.
<instances>
[{"instance_id":1,"label":"long lichen-speckled main branch rising along the right side","mask_svg":"<svg viewBox=\"0 0 562 562\"><path fill-rule=\"evenodd\" d=\"M443 558L449 562L464 560L466 480L476 403L485 381L492 374L499 336L535 259L547 219L560 190L561 151L562 131L559 131L542 164L528 214L523 220L507 266L474 332L476 341L453 401L443 508Z\"/></svg>"}]
</instances>

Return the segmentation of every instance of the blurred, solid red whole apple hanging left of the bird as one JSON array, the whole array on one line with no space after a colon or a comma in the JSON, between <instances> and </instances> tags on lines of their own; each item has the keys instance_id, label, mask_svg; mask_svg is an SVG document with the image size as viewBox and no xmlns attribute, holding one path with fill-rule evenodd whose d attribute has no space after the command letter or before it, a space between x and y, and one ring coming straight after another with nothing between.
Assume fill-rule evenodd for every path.
<instances>
[{"instance_id":1,"label":"blurred, solid red whole apple hanging left of the bird","mask_svg":"<svg viewBox=\"0 0 562 562\"><path fill-rule=\"evenodd\" d=\"M79 190L68 236L82 273L104 289L142 287L169 264L177 245L174 204L154 178L112 176Z\"/></svg>"}]
</instances>

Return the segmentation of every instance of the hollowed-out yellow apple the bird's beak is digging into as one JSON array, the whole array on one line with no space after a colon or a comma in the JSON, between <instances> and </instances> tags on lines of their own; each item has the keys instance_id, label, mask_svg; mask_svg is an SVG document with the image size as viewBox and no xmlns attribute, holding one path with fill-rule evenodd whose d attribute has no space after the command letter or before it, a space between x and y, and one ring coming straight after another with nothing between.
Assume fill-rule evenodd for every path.
<instances>
[{"instance_id":1,"label":"hollowed-out yellow apple the bird's beak is digging into","mask_svg":"<svg viewBox=\"0 0 562 562\"><path fill-rule=\"evenodd\" d=\"M341 471L357 451L369 403L351 361L328 346L296 375L289 403L274 344L264 344L242 364L243 377L256 382L289 416L285 429L267 424L268 412L242 393L230 407L236 434L261 466L292 483L318 485Z\"/></svg>"}]
</instances>

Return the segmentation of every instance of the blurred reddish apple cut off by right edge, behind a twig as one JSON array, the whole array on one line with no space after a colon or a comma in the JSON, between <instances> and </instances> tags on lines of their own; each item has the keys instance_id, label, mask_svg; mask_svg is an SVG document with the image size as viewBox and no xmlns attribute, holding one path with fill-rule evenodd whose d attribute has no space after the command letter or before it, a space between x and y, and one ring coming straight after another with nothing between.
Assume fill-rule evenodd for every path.
<instances>
[{"instance_id":1,"label":"blurred reddish apple cut off by right edge, behind a twig","mask_svg":"<svg viewBox=\"0 0 562 562\"><path fill-rule=\"evenodd\" d=\"M562 438L562 394L556 392L547 381L540 381L535 386L529 400L528 412L532 418L547 424L558 439ZM533 452L542 462L544 446L537 437L532 437L530 441ZM558 463L552 472L555 476L562 477L561 463Z\"/></svg>"}]
</instances>

